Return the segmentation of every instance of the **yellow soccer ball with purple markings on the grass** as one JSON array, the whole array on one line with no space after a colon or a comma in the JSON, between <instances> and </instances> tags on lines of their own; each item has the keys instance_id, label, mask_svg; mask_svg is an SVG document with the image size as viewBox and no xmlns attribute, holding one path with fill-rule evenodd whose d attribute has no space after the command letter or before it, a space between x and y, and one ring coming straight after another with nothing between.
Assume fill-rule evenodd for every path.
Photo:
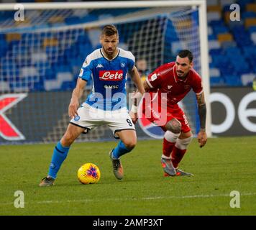
<instances>
[{"instance_id":1,"label":"yellow soccer ball with purple markings on the grass","mask_svg":"<svg viewBox=\"0 0 256 230\"><path fill-rule=\"evenodd\" d=\"M97 165L86 163L78 169L78 180L85 185L98 183L101 172Z\"/></svg>"}]
</instances>

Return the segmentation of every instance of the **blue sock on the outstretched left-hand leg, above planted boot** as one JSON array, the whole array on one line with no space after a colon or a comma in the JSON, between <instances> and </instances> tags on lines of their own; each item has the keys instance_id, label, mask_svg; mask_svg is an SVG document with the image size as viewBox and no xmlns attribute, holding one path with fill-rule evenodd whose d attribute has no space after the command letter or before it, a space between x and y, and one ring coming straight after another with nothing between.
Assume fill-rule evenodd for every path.
<instances>
[{"instance_id":1,"label":"blue sock on the outstretched left-hand leg, above planted boot","mask_svg":"<svg viewBox=\"0 0 256 230\"><path fill-rule=\"evenodd\" d=\"M68 155L69 147L63 147L60 142L55 146L52 155L52 161L50 162L49 173L48 175L55 179L58 171L60 170L60 166Z\"/></svg>"}]
</instances>

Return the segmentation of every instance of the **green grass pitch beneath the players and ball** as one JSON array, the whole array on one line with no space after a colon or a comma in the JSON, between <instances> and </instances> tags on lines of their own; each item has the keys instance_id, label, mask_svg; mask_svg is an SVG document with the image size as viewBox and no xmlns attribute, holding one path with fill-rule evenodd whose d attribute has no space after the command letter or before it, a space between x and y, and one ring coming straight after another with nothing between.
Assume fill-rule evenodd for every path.
<instances>
[{"instance_id":1,"label":"green grass pitch beneath the players and ball","mask_svg":"<svg viewBox=\"0 0 256 230\"><path fill-rule=\"evenodd\" d=\"M202 149L193 139L180 163L191 178L163 177L162 141L143 140L122 157L124 179L116 180L108 155L116 143L74 143L50 188L38 184L55 144L0 146L0 215L256 214L256 137L211 138ZM76 172L86 162L99 166L98 184L78 182ZM24 208L14 207L17 190L24 192ZM240 208L230 206L233 190Z\"/></svg>"}]
</instances>

